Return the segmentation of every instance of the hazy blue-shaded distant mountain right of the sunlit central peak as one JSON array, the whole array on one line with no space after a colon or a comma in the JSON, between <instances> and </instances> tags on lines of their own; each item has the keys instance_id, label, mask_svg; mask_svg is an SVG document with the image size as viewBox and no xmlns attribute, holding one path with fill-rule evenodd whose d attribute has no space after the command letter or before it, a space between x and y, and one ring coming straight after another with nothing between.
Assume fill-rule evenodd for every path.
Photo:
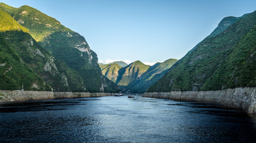
<instances>
[{"instance_id":1,"label":"hazy blue-shaded distant mountain right of the sunlit central peak","mask_svg":"<svg viewBox=\"0 0 256 143\"><path fill-rule=\"evenodd\" d=\"M147 69L146 72L141 74L139 78L129 83L127 85L127 89L129 89L129 91L134 93L146 92L146 90L151 85L153 85L153 83L155 83L157 80L161 79L161 77L164 76L164 74L167 72L167 69L170 69L170 67L173 66L173 64L176 63L177 61L178 60L176 59L170 58L168 60L165 60L162 63L156 63L153 66L150 66L149 69ZM159 75L155 76L156 74L159 74ZM155 78L152 79L152 77L154 76Z\"/></svg>"}]
</instances>

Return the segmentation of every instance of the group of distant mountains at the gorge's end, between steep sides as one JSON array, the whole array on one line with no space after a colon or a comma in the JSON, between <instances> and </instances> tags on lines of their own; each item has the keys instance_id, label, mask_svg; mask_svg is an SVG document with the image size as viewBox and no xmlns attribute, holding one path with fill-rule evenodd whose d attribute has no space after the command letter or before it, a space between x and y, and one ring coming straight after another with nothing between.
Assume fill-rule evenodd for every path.
<instances>
[{"instance_id":1,"label":"group of distant mountains at the gorge's end, between steep sides","mask_svg":"<svg viewBox=\"0 0 256 143\"><path fill-rule=\"evenodd\" d=\"M121 67L120 62L110 64L100 64L103 75L121 86L123 91L133 93L143 93L157 80L167 72L167 69L176 63L176 59L169 59L163 63L156 63L153 66L148 66L141 61ZM124 64L124 62L122 62Z\"/></svg>"}]
</instances>

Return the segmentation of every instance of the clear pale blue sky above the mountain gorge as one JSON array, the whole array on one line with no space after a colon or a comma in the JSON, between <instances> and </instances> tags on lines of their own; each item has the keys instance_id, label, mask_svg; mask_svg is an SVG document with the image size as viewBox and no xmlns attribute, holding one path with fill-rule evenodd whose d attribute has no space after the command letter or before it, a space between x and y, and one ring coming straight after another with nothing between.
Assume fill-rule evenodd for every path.
<instances>
[{"instance_id":1,"label":"clear pale blue sky above the mountain gorge","mask_svg":"<svg viewBox=\"0 0 256 143\"><path fill-rule=\"evenodd\" d=\"M7 0L29 5L84 36L99 63L182 58L224 17L256 10L253 0Z\"/></svg>"}]
</instances>

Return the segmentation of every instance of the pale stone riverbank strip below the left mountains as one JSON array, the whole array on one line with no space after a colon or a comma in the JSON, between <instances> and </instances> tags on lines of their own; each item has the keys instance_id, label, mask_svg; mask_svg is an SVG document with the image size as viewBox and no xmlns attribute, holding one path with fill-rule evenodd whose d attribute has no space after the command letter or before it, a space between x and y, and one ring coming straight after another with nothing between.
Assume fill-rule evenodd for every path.
<instances>
[{"instance_id":1,"label":"pale stone riverbank strip below the left mountains","mask_svg":"<svg viewBox=\"0 0 256 143\"><path fill-rule=\"evenodd\" d=\"M4 91L0 90L0 102L48 100L55 98L106 97L112 93L103 92L52 92L52 91Z\"/></svg>"}]
</instances>

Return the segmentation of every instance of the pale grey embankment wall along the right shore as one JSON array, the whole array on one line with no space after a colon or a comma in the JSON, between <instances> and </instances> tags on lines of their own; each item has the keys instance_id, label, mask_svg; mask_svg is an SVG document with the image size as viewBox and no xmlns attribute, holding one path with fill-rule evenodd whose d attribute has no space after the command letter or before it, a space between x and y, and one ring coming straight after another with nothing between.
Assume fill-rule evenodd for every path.
<instances>
[{"instance_id":1,"label":"pale grey embankment wall along the right shore","mask_svg":"<svg viewBox=\"0 0 256 143\"><path fill-rule=\"evenodd\" d=\"M166 98L181 101L216 102L225 107L240 108L256 113L256 87L234 88L221 91L146 92L143 97Z\"/></svg>"}]
</instances>

